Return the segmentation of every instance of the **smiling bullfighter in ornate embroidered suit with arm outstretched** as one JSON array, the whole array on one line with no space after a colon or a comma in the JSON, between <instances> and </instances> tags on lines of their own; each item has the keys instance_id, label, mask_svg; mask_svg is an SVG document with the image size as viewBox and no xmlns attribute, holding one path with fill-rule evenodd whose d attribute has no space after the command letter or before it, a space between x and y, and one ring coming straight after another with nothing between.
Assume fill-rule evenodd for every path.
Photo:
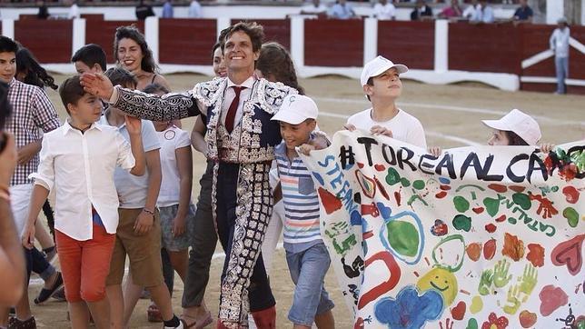
<instances>
[{"instance_id":1,"label":"smiling bullfighter in ornate embroidered suit with arm outstretched","mask_svg":"<svg viewBox=\"0 0 585 329\"><path fill-rule=\"evenodd\" d=\"M258 327L276 325L276 303L260 253L273 212L269 171L274 146L282 140L278 125L270 119L283 98L297 91L254 77L262 43L262 25L232 25L223 46L227 78L197 84L183 94L144 95L114 88L102 75L82 77L86 90L129 115L158 121L208 115L205 140L208 157L215 162L213 210L226 254L220 328L247 326L248 309Z\"/></svg>"}]
</instances>

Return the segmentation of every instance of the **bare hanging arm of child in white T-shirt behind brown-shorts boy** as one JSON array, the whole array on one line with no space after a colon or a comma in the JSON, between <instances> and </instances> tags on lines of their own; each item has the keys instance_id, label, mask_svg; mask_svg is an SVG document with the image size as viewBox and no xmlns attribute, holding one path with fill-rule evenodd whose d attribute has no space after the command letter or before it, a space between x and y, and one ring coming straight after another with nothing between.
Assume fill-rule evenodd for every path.
<instances>
[{"instance_id":1,"label":"bare hanging arm of child in white T-shirt behind brown-shorts boy","mask_svg":"<svg viewBox=\"0 0 585 329\"><path fill-rule=\"evenodd\" d=\"M179 169L179 209L174 217L174 236L184 233L185 218L191 204L191 189L193 183L193 155L191 146L185 146L174 150Z\"/></svg>"}]
</instances>

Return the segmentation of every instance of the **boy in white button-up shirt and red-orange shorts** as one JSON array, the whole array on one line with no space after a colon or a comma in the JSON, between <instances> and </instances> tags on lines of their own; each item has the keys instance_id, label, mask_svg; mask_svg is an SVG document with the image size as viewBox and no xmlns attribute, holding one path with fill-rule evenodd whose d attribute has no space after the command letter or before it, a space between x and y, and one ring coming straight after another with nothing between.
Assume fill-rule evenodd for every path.
<instances>
[{"instance_id":1,"label":"boy in white button-up shirt and red-orange shorts","mask_svg":"<svg viewBox=\"0 0 585 329\"><path fill-rule=\"evenodd\" d=\"M65 80L59 94L70 119L43 138L41 163L31 175L35 187L23 244L33 247L35 220L55 188L55 238L72 326L87 326L89 306L95 325L108 328L105 278L118 225L114 170L117 165L130 174L144 174L141 123L125 117L128 145L114 128L95 124L102 104L84 92L79 76Z\"/></svg>"}]
</instances>

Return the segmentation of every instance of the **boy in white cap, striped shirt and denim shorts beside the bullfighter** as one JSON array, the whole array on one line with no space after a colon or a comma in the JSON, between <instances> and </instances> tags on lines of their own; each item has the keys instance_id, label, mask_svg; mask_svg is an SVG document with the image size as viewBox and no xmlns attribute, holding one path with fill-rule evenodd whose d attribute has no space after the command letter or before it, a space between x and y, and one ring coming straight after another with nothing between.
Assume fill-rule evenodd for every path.
<instances>
[{"instance_id":1,"label":"boy in white cap, striped shirt and denim shorts beside the bullfighter","mask_svg":"<svg viewBox=\"0 0 585 329\"><path fill-rule=\"evenodd\" d=\"M314 132L317 105L304 95L288 95L271 120L278 121L283 142L274 148L282 192L274 202L284 202L284 250L292 282L296 285L288 318L293 328L333 328L333 302L324 288L324 278L331 264L319 228L319 198L311 173L297 154L323 148L315 143L323 135ZM322 135L321 138L316 138ZM278 189L278 187L277 187Z\"/></svg>"}]
</instances>

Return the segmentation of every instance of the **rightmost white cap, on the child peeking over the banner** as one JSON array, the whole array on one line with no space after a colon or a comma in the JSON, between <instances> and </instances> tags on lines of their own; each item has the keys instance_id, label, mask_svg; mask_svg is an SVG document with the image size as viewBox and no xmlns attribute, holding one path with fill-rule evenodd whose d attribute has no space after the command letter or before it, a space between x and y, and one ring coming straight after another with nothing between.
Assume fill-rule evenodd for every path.
<instances>
[{"instance_id":1,"label":"rightmost white cap, on the child peeking over the banner","mask_svg":"<svg viewBox=\"0 0 585 329\"><path fill-rule=\"evenodd\" d=\"M530 115L513 109L500 120L481 120L493 129L512 132L519 135L528 145L536 145L540 140L540 126Z\"/></svg>"}]
</instances>

